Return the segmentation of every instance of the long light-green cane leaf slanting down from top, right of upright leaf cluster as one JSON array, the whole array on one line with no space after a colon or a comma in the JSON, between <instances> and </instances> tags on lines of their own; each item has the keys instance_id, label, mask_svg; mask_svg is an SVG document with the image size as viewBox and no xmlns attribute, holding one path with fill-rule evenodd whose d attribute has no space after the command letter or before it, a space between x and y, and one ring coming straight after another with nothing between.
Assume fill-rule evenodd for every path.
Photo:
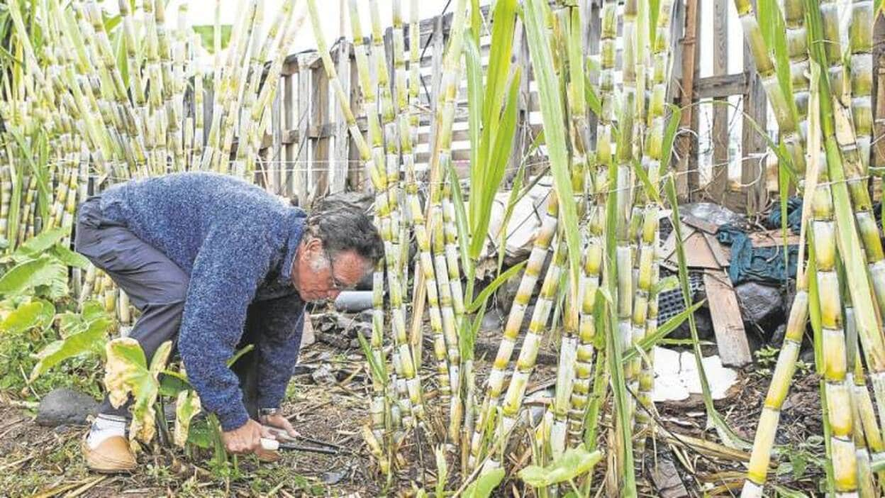
<instances>
[{"instance_id":1,"label":"long light-green cane leaf slanting down from top, right of upright leaf cluster","mask_svg":"<svg viewBox=\"0 0 885 498\"><path fill-rule=\"evenodd\" d=\"M523 23L526 27L528 51L538 84L541 114L550 156L550 171L559 201L559 215L562 219L568 246L568 262L573 281L578 281L581 264L581 232L578 228L577 206L572 191L572 178L569 171L566 150L566 128L562 97L559 92L559 79L553 71L553 56L547 39L547 4L542 0L527 0L523 7ZM577 288L573 289L576 292Z\"/></svg>"}]
</instances>

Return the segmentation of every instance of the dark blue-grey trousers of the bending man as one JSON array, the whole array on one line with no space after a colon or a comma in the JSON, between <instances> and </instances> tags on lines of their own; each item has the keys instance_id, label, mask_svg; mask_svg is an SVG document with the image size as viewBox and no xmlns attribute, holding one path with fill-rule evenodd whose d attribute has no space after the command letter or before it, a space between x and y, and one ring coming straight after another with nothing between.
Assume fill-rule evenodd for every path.
<instances>
[{"instance_id":1,"label":"dark blue-grey trousers of the bending man","mask_svg":"<svg viewBox=\"0 0 885 498\"><path fill-rule=\"evenodd\" d=\"M175 351L189 276L125 226L106 219L98 198L89 198L80 206L74 248L111 276L141 311L128 337L142 346L148 363L167 340L173 341ZM258 338L257 327L250 326L253 322L247 317L240 347L254 344ZM232 370L240 377L246 409L250 416L257 418L258 354L252 351L243 355ZM131 400L115 409L105 396L98 413L128 417L130 404Z\"/></svg>"}]
</instances>

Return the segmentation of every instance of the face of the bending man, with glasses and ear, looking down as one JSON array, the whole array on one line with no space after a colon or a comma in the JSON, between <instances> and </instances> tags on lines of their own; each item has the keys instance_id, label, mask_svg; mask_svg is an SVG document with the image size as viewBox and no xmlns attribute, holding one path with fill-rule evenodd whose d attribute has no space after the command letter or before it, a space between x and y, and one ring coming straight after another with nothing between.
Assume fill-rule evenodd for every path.
<instances>
[{"instance_id":1,"label":"face of the bending man, with glasses and ear, looking down","mask_svg":"<svg viewBox=\"0 0 885 498\"><path fill-rule=\"evenodd\" d=\"M338 253L332 259L319 238L302 245L296 265L295 287L305 301L335 300L342 290L358 284L369 269L367 261L353 251Z\"/></svg>"}]
</instances>

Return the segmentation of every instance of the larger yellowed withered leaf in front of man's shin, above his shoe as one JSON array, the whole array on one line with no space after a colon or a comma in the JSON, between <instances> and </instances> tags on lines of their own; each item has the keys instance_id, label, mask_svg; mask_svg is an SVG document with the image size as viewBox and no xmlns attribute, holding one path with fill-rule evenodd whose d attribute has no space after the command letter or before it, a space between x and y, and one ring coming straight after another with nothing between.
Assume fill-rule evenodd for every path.
<instances>
[{"instance_id":1,"label":"larger yellowed withered leaf in front of man's shin, above his shoe","mask_svg":"<svg viewBox=\"0 0 885 498\"><path fill-rule=\"evenodd\" d=\"M150 362L150 370L142 346L134 338L113 339L107 343L105 350L104 385L111 404L114 407L122 406L131 394L134 402L129 440L137 438L150 442L155 433L154 402L159 392L157 377L172 351L172 341L165 341L159 346Z\"/></svg>"}]
</instances>

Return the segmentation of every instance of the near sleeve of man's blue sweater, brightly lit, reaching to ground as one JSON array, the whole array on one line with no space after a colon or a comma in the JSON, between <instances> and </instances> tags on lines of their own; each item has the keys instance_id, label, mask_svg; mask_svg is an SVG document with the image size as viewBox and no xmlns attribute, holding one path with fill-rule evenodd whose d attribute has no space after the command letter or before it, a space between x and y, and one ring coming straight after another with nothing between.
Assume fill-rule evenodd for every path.
<instances>
[{"instance_id":1,"label":"near sleeve of man's blue sweater, brightly lit, reaching to ground","mask_svg":"<svg viewBox=\"0 0 885 498\"><path fill-rule=\"evenodd\" d=\"M179 352L204 408L230 431L249 421L235 373L227 368L246 312L270 267L272 248L258 222L219 226L204 240L190 275Z\"/></svg>"}]
</instances>

